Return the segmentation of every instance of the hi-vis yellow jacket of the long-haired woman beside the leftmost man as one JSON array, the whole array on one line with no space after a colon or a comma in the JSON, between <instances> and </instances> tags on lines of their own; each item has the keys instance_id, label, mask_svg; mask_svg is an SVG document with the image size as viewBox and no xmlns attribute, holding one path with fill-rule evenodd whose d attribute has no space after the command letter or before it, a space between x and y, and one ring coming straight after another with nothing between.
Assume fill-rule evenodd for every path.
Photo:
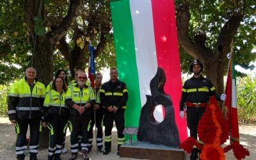
<instances>
[{"instance_id":1,"label":"hi-vis yellow jacket of the long-haired woman beside the leftmost man","mask_svg":"<svg viewBox=\"0 0 256 160\"><path fill-rule=\"evenodd\" d=\"M53 89L46 93L42 115L43 122L48 122L51 115L69 115L68 107L65 105L66 96L67 92L59 93Z\"/></svg>"}]
</instances>

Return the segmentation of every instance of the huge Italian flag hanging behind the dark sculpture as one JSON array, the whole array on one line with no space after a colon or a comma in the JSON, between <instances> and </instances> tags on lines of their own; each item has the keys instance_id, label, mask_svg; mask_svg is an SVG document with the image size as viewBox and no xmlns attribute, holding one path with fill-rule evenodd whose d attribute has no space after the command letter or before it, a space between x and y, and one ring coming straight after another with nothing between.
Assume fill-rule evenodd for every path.
<instances>
[{"instance_id":1,"label":"huge Italian flag hanging behind the dark sculpture","mask_svg":"<svg viewBox=\"0 0 256 160\"><path fill-rule=\"evenodd\" d=\"M166 74L164 92L172 98L180 141L185 140L186 120L179 116L182 81L174 1L111 1L111 16L119 79L129 90L125 126L138 127L146 95L151 95L150 81L161 67ZM163 119L164 111L160 112Z\"/></svg>"}]
</instances>

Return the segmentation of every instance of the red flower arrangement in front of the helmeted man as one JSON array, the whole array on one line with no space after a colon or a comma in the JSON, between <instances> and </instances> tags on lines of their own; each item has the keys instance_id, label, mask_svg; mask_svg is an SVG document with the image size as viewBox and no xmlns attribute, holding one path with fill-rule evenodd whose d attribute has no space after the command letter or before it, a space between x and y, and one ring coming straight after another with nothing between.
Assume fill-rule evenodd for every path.
<instances>
[{"instance_id":1,"label":"red flower arrangement in front of the helmeted man","mask_svg":"<svg viewBox=\"0 0 256 160\"><path fill-rule=\"evenodd\" d=\"M236 159L249 156L250 153L243 145L232 144L225 148L221 145L228 139L228 121L221 114L217 100L211 97L210 104L198 123L198 137L204 144L198 143L195 138L189 137L180 144L186 152L190 153L195 145L202 150L200 159L225 159L225 152L233 149Z\"/></svg>"}]
</instances>

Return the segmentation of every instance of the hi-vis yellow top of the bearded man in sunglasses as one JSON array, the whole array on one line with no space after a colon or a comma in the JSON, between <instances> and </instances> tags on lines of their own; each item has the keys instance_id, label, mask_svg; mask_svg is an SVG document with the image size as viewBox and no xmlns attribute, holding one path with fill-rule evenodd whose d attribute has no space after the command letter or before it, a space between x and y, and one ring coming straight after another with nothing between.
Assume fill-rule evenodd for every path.
<instances>
[{"instance_id":1,"label":"hi-vis yellow top of the bearded man in sunglasses","mask_svg":"<svg viewBox=\"0 0 256 160\"><path fill-rule=\"evenodd\" d=\"M90 103L92 106L95 103L95 94L92 87L85 85L84 88L79 88L78 84L68 86L65 104L70 108L70 115L80 115L76 109L72 108L74 104L84 106L86 103ZM91 109L92 107L90 110ZM83 116L84 113L81 114L81 116Z\"/></svg>"}]
</instances>

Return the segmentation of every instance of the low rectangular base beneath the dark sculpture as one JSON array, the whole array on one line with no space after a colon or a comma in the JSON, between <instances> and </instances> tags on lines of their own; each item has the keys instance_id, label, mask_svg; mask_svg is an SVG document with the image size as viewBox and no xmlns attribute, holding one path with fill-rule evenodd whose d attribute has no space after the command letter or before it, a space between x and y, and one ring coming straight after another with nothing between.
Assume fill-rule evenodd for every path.
<instances>
[{"instance_id":1,"label":"low rectangular base beneath the dark sculpture","mask_svg":"<svg viewBox=\"0 0 256 160\"><path fill-rule=\"evenodd\" d=\"M131 143L131 142L130 142ZM132 141L130 145L126 141L120 147L120 157L130 157L136 159L156 159L156 160L184 160L184 151L179 148L166 147L163 145L153 145L141 141Z\"/></svg>"}]
</instances>

